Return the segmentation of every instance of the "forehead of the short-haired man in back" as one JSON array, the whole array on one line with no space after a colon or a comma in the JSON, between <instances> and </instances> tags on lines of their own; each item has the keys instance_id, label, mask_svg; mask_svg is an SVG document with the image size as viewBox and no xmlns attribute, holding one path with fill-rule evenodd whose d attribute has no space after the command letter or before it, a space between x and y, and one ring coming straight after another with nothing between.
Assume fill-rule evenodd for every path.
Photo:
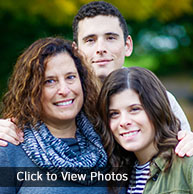
<instances>
[{"instance_id":1,"label":"forehead of the short-haired man in back","mask_svg":"<svg viewBox=\"0 0 193 194\"><path fill-rule=\"evenodd\" d=\"M84 18L78 23L78 37L100 35L104 33L114 32L123 36L123 30L120 26L118 17L115 16L95 16L92 18Z\"/></svg>"}]
</instances>

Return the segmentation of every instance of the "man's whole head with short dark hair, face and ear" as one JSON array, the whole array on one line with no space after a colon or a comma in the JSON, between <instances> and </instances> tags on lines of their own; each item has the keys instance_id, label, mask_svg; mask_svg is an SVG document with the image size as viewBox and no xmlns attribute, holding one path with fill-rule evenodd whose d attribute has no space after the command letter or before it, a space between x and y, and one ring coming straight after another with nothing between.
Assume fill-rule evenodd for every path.
<instances>
[{"instance_id":1,"label":"man's whole head with short dark hair, face and ear","mask_svg":"<svg viewBox=\"0 0 193 194\"><path fill-rule=\"evenodd\" d=\"M125 56L133 51L125 19L109 3L96 1L84 5L74 17L72 27L74 45L102 81L121 68Z\"/></svg>"}]
</instances>

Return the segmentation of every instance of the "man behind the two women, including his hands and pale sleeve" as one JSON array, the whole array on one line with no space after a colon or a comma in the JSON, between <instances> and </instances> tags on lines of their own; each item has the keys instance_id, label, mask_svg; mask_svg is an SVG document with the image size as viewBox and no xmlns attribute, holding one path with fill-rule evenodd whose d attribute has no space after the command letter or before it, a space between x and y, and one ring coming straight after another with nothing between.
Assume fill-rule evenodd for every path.
<instances>
[{"instance_id":1,"label":"man behind the two women, including his hands and pale sleeve","mask_svg":"<svg viewBox=\"0 0 193 194\"><path fill-rule=\"evenodd\" d=\"M122 68L125 57L133 50L131 36L125 19L113 5L96 1L82 6L73 21L73 46L81 53L85 61L103 81L113 70ZM168 92L175 115L180 119L184 131L179 133L176 153L180 156L193 155L193 133L184 112ZM12 130L11 130L12 129ZM16 126L8 120L0 120L0 145L19 143L22 133L16 132Z\"/></svg>"}]
</instances>

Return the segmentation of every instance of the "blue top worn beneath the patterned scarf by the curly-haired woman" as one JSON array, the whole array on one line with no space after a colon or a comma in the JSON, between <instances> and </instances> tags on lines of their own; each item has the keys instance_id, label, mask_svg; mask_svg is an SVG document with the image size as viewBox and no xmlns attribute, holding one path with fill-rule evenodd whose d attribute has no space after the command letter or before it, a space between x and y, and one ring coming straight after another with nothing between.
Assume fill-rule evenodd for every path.
<instances>
[{"instance_id":1,"label":"blue top worn beneath the patterned scarf by the curly-haired woman","mask_svg":"<svg viewBox=\"0 0 193 194\"><path fill-rule=\"evenodd\" d=\"M78 143L76 139L69 138L69 139L62 139L63 141L66 141L66 143L70 146L71 149L77 154L80 154L80 149L78 146ZM25 151L22 149L21 145L15 146L13 144L8 143L7 147L0 147L0 167L36 167L34 169L38 169L40 174L43 174L43 177L46 177L46 172L43 172L40 168L38 168L31 159L28 158ZM6 172L2 172L2 169ZM7 170L6 170L7 169ZM11 170L10 170L11 169ZM57 179L57 181L49 182L49 186L42 185L41 181L36 181L37 184L31 186L29 184L29 181L15 181L14 177L16 177L16 174L13 171L16 168L0 168L0 193L1 194L73 194L73 193L79 193L79 194L107 194L108 188L107 186L104 187L100 185L99 182L91 185L91 186L84 186L80 185L79 183L75 181L63 181L62 179ZM10 174L8 174L9 172ZM17 171L18 172L18 171ZM23 171L22 171L23 173ZM28 171L27 171L28 173ZM24 174L19 176L19 178L24 178ZM18 178L15 178L18 180ZM13 185L10 187L10 184L8 184L7 187L5 187L5 183L11 182ZM38 187L39 184L39 187ZM30 185L30 186L29 186ZM124 190L124 189L123 189ZM125 193L125 190L121 193Z\"/></svg>"}]
</instances>

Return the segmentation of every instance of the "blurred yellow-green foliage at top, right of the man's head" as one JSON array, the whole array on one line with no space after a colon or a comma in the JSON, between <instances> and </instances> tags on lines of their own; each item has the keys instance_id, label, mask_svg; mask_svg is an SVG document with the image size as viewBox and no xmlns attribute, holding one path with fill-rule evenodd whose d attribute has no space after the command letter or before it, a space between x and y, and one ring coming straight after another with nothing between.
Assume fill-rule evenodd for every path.
<instances>
[{"instance_id":1,"label":"blurred yellow-green foliage at top, right of the man's head","mask_svg":"<svg viewBox=\"0 0 193 194\"><path fill-rule=\"evenodd\" d=\"M129 0L110 1L124 14L127 19L146 21L157 18L160 21L170 21L185 13L192 14L192 0Z\"/></svg>"}]
</instances>

